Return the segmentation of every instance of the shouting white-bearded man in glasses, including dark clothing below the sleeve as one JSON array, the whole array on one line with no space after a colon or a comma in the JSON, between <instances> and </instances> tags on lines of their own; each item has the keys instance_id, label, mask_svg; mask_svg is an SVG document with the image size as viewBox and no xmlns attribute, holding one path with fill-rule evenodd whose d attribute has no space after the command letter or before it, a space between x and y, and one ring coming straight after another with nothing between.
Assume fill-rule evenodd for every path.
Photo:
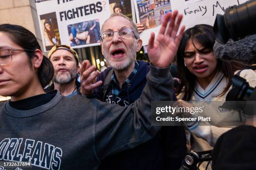
<instances>
[{"instance_id":1,"label":"shouting white-bearded man in glasses, including dark clothing below the sleeve","mask_svg":"<svg viewBox=\"0 0 256 170\"><path fill-rule=\"evenodd\" d=\"M115 13L102 25L100 37L102 54L110 67L100 74L83 74L86 81L82 82L81 92L104 102L130 105L140 97L150 70L147 62L136 60L142 45L138 29L125 15ZM88 60L82 63L81 72L87 69L95 69ZM96 76L97 82L93 82ZM175 95L173 100L177 100ZM99 170L178 170L185 154L184 128L165 127L147 143L105 158Z\"/></svg>"}]
</instances>

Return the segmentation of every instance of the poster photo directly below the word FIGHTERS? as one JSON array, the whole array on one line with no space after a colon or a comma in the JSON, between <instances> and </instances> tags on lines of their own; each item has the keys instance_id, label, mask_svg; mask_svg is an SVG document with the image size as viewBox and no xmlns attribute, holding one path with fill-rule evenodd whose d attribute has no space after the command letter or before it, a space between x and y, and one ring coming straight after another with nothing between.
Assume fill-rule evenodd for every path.
<instances>
[{"instance_id":1,"label":"poster photo directly below the word FIGHTERS?","mask_svg":"<svg viewBox=\"0 0 256 170\"><path fill-rule=\"evenodd\" d=\"M67 26L70 46L100 42L99 19L74 23Z\"/></svg>"}]
</instances>

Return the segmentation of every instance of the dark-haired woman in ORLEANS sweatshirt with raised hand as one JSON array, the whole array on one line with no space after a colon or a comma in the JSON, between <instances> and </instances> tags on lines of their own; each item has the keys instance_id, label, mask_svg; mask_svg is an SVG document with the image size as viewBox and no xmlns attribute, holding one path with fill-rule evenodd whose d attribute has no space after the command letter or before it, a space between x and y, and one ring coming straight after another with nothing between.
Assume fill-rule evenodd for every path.
<instances>
[{"instance_id":1,"label":"dark-haired woman in ORLEANS sweatshirt with raised hand","mask_svg":"<svg viewBox=\"0 0 256 170\"><path fill-rule=\"evenodd\" d=\"M158 40L151 35L147 84L140 99L127 107L81 95L68 98L56 90L45 93L54 70L36 37L21 26L0 25L0 95L11 97L0 108L0 160L29 162L33 170L96 170L103 158L154 138L161 127L151 126L151 101L173 96L169 65L184 27L178 37L164 32L168 20L176 18L177 24L167 29L177 32L182 16L176 12L166 16ZM166 43L156 46L159 40ZM82 85L84 76L97 77L95 69L82 72Z\"/></svg>"}]
</instances>

